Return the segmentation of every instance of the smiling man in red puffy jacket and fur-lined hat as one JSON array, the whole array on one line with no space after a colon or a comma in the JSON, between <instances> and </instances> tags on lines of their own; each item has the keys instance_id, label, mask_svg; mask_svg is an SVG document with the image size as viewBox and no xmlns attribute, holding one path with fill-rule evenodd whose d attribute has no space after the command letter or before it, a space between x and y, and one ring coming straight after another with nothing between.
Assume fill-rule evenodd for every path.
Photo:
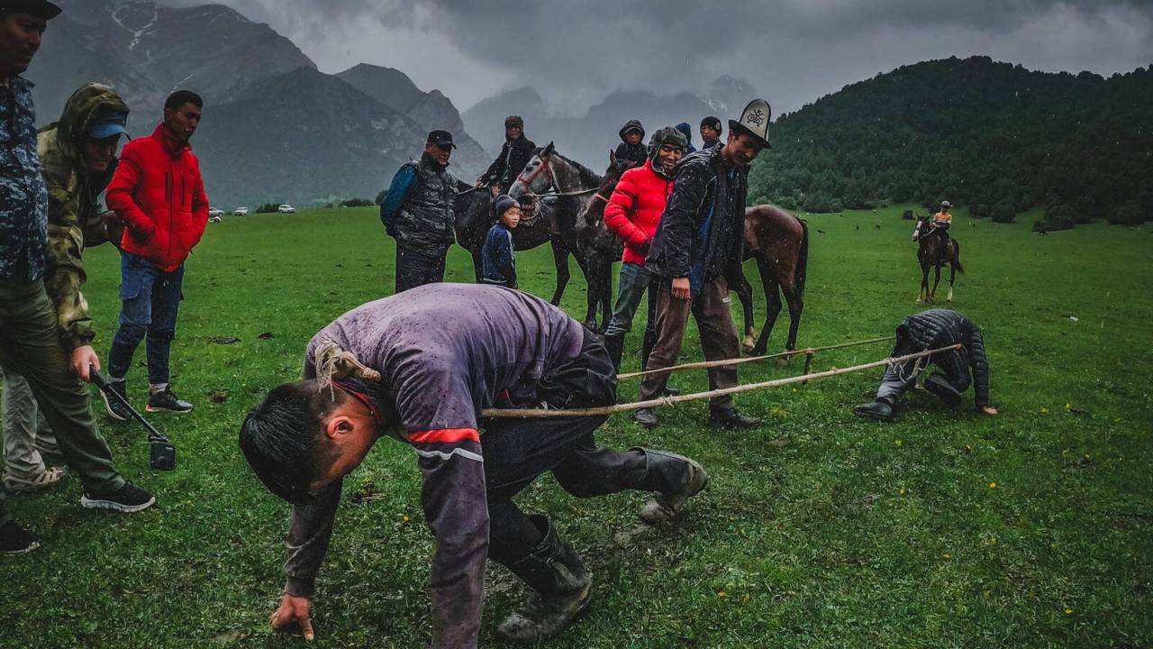
<instances>
[{"instance_id":1,"label":"smiling man in red puffy jacket and fur-lined hat","mask_svg":"<svg viewBox=\"0 0 1153 649\"><path fill-rule=\"evenodd\" d=\"M609 204L604 207L604 225L625 240L620 290L617 291L612 320L604 331L604 346L609 350L612 365L618 371L625 335L632 329L636 307L649 289L645 255L648 253L653 233L656 232L656 225L661 222L664 203L672 193L672 174L677 170L677 163L685 155L685 144L687 144L685 135L676 128L665 127L654 133L649 158L645 161L645 165L630 169L621 174ZM656 329L650 312L645 331L645 348L651 349L655 338Z\"/></svg>"}]
</instances>

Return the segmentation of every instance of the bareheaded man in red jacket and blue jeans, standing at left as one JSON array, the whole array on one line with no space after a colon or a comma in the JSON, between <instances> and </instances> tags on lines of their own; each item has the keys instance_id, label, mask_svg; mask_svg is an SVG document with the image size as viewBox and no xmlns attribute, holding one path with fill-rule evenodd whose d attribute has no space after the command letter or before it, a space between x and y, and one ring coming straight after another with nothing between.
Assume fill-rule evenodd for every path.
<instances>
[{"instance_id":1,"label":"bareheaded man in red jacket and blue jeans, standing at left","mask_svg":"<svg viewBox=\"0 0 1153 649\"><path fill-rule=\"evenodd\" d=\"M164 104L164 124L149 137L125 146L106 199L125 222L120 258L120 329L112 340L108 373L113 388L127 395L133 353L148 337L151 394L148 411L187 412L193 404L168 383L168 353L176 333L184 260L204 236L209 201L201 166L188 141L201 122L204 102L179 90ZM128 419L115 401L104 397L108 415Z\"/></svg>"}]
</instances>

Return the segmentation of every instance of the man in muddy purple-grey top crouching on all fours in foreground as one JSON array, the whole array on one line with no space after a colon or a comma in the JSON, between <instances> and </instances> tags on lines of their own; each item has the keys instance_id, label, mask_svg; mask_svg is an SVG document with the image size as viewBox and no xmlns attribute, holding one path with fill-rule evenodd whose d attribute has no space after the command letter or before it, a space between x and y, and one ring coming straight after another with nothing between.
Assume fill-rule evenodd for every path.
<instances>
[{"instance_id":1,"label":"man in muddy purple-grey top crouching on all fours in foreground","mask_svg":"<svg viewBox=\"0 0 1153 649\"><path fill-rule=\"evenodd\" d=\"M519 291L429 284L341 315L308 344L304 380L273 389L241 426L248 463L294 503L287 583L272 626L299 624L311 640L310 600L341 479L389 435L413 446L423 476L436 537L432 646L476 647L485 557L532 589L497 628L502 639L528 642L563 629L587 606L591 575L549 520L525 515L513 497L551 471L578 498L655 492L641 517L658 523L708 477L687 457L597 446L594 432L606 417L480 415L491 406L608 405L616 389L602 340Z\"/></svg>"}]
</instances>

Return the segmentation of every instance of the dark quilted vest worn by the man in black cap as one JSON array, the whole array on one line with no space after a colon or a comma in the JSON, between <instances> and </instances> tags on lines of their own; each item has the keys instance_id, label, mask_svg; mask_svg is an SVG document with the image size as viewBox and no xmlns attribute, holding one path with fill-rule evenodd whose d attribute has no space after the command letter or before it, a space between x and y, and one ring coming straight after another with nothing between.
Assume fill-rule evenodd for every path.
<instances>
[{"instance_id":1,"label":"dark quilted vest worn by the man in black cap","mask_svg":"<svg viewBox=\"0 0 1153 649\"><path fill-rule=\"evenodd\" d=\"M415 186L405 195L392 224L397 243L430 256L443 256L457 240L453 204L457 177L424 154L407 163L416 174Z\"/></svg>"}]
</instances>

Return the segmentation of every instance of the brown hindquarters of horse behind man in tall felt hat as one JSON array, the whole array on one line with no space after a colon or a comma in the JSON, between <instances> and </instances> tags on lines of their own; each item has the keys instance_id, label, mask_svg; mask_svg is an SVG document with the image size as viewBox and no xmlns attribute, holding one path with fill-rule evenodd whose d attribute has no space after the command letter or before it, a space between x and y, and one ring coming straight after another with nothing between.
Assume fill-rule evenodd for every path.
<instances>
[{"instance_id":1,"label":"brown hindquarters of horse behind man in tall felt hat","mask_svg":"<svg viewBox=\"0 0 1153 649\"><path fill-rule=\"evenodd\" d=\"M789 337L785 349L797 349L797 329L805 308L805 275L808 271L808 224L776 206L745 209L745 260L756 260L768 306L764 328L754 344L753 286L741 271L732 286L745 312L744 348L753 356L768 349L769 334L781 314L781 294L789 305Z\"/></svg>"}]
</instances>

